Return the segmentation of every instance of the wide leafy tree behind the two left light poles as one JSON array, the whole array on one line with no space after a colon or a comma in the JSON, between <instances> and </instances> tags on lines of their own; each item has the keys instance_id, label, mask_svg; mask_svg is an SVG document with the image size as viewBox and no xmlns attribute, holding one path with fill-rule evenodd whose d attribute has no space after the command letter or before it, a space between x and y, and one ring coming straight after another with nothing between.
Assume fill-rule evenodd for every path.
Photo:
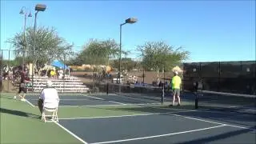
<instances>
[{"instance_id":1,"label":"wide leafy tree behind the two left light poles","mask_svg":"<svg viewBox=\"0 0 256 144\"><path fill-rule=\"evenodd\" d=\"M20 32L14 35L14 38L10 38L7 42L10 42L16 50L16 57L21 57L23 51L26 51L26 59L28 62L34 62L36 66L42 66L45 63L50 63L54 59L63 60L64 55L66 59L72 56L73 45L68 44L64 38L61 38L54 28L46 28L39 26L35 33L35 47L33 57L33 40L34 29L29 27L26 29L26 39L24 39L24 33ZM24 50L26 47L26 50Z\"/></svg>"}]
</instances>

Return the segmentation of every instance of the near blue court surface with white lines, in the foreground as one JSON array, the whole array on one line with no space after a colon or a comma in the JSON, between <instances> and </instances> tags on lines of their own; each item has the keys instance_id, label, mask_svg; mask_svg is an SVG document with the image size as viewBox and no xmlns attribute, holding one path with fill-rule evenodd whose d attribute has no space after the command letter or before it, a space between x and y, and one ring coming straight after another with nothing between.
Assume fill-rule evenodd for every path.
<instances>
[{"instance_id":1,"label":"near blue court surface with white lines, in the foreground","mask_svg":"<svg viewBox=\"0 0 256 144\"><path fill-rule=\"evenodd\" d=\"M255 118L202 112L106 118L63 118L58 123L84 143L254 143ZM219 117L219 118L218 118Z\"/></svg>"}]
</instances>

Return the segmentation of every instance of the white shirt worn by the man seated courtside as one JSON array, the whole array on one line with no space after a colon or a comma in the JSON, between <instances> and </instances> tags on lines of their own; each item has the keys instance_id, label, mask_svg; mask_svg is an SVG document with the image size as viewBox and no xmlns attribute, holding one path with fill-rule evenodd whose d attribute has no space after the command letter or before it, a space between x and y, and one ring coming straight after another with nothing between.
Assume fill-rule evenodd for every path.
<instances>
[{"instance_id":1,"label":"white shirt worn by the man seated courtside","mask_svg":"<svg viewBox=\"0 0 256 144\"><path fill-rule=\"evenodd\" d=\"M39 98L42 99L45 103L53 103L54 105L59 101L58 91L52 87L47 87L42 90Z\"/></svg>"}]
</instances>

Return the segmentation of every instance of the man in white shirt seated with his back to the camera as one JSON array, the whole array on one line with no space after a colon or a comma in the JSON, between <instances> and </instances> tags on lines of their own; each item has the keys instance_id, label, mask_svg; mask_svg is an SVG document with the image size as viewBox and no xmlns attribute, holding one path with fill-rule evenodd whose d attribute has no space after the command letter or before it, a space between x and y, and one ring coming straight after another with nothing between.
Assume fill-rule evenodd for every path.
<instances>
[{"instance_id":1,"label":"man in white shirt seated with his back to the camera","mask_svg":"<svg viewBox=\"0 0 256 144\"><path fill-rule=\"evenodd\" d=\"M43 108L43 103L44 102L50 102L55 104L54 102L59 102L58 98L58 91L52 87L52 82L47 81L46 82L46 88L44 88L39 96L38 99L38 108L42 114L42 108Z\"/></svg>"}]
</instances>

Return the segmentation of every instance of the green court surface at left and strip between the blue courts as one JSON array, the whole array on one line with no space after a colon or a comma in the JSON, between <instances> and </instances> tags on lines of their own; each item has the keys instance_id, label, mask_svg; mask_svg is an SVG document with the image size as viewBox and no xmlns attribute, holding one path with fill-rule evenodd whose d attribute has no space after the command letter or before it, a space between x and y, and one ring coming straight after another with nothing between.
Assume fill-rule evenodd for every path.
<instances>
[{"instance_id":1,"label":"green court surface at left and strip between the blue courts","mask_svg":"<svg viewBox=\"0 0 256 144\"><path fill-rule=\"evenodd\" d=\"M1 94L0 143L81 143L54 122L42 122L38 107L13 99L14 94ZM184 103L178 110L192 110ZM58 118L91 118L133 114L175 112L176 106L60 106Z\"/></svg>"}]
</instances>

